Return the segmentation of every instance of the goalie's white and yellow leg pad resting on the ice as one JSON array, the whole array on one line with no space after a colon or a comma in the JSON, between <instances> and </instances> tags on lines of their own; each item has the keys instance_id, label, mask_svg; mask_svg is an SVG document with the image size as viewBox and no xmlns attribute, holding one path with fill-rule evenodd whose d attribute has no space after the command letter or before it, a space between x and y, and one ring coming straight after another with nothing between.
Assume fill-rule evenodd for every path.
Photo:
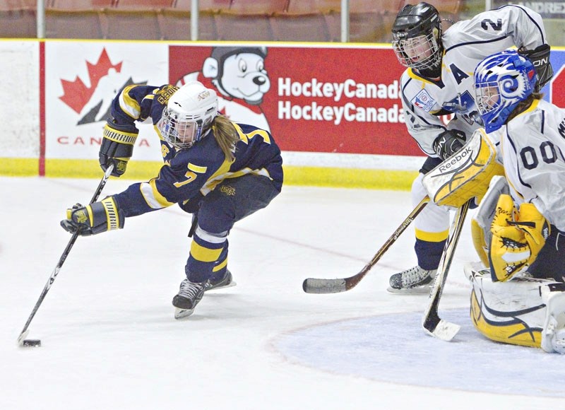
<instances>
[{"instance_id":1,"label":"goalie's white and yellow leg pad resting on the ice","mask_svg":"<svg viewBox=\"0 0 565 410\"><path fill-rule=\"evenodd\" d=\"M517 278L493 282L489 269L465 265L471 291L470 317L488 339L565 354L565 283Z\"/></svg>"}]
</instances>

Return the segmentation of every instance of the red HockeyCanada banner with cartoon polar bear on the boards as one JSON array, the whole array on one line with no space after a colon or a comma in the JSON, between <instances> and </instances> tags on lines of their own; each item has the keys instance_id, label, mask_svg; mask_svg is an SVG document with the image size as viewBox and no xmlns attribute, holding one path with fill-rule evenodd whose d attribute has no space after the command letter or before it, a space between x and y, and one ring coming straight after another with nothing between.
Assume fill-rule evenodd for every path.
<instances>
[{"instance_id":1,"label":"red HockeyCanada banner with cartoon polar bear on the boards","mask_svg":"<svg viewBox=\"0 0 565 410\"><path fill-rule=\"evenodd\" d=\"M220 112L269 129L283 151L421 156L392 49L169 47L169 80L217 90Z\"/></svg>"}]
</instances>

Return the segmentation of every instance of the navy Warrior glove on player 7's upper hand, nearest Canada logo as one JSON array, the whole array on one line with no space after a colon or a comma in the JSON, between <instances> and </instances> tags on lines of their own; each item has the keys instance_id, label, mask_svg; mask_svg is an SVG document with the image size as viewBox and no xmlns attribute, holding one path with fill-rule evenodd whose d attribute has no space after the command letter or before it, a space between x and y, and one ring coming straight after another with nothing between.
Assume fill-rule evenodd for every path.
<instances>
[{"instance_id":1,"label":"navy Warrior glove on player 7's upper hand, nearest Canada logo","mask_svg":"<svg viewBox=\"0 0 565 410\"><path fill-rule=\"evenodd\" d=\"M133 144L137 139L138 131L129 132L117 129L115 124L106 124L102 145L100 145L100 167L106 172L110 164L114 164L112 176L120 177L126 172L129 158L133 153Z\"/></svg>"}]
</instances>

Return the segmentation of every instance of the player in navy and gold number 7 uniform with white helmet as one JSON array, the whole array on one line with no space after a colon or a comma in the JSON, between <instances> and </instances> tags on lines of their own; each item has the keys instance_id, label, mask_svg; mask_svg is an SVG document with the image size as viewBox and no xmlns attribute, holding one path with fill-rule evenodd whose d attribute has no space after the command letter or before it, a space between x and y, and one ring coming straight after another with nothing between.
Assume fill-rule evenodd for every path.
<instances>
[{"instance_id":1,"label":"player in navy and gold number 7 uniform with white helmet","mask_svg":"<svg viewBox=\"0 0 565 410\"><path fill-rule=\"evenodd\" d=\"M100 165L121 176L138 135L151 119L165 164L159 175L102 201L67 210L64 229L93 235L124 227L126 218L178 204L193 214L186 278L172 304L187 317L211 288L230 286L227 235L235 222L267 206L283 185L280 149L268 131L218 113L214 90L194 81L175 86L127 86L112 102Z\"/></svg>"}]
</instances>

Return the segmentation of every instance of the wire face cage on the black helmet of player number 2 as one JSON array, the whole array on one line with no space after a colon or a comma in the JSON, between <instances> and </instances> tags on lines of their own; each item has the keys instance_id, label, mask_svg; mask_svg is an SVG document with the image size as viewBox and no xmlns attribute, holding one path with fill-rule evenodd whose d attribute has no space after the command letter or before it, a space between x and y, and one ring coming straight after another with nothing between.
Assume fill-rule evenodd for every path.
<instances>
[{"instance_id":1,"label":"wire face cage on the black helmet of player number 2","mask_svg":"<svg viewBox=\"0 0 565 410\"><path fill-rule=\"evenodd\" d=\"M393 49L396 58L405 67L412 69L434 69L441 63L441 47L437 40L437 30L427 35L399 38L393 34Z\"/></svg>"}]
</instances>

